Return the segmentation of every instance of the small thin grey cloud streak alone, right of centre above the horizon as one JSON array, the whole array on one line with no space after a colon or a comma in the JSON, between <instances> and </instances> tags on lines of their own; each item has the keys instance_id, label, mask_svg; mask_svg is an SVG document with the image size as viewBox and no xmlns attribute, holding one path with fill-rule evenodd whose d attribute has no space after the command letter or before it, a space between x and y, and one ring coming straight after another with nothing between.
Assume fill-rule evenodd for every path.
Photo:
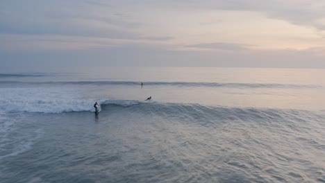
<instances>
[{"instance_id":1,"label":"small thin grey cloud streak alone, right of centre above the horizon","mask_svg":"<svg viewBox=\"0 0 325 183\"><path fill-rule=\"evenodd\" d=\"M249 44L234 44L234 43L225 43L225 42L213 42L206 44L191 44L185 47L196 48L196 49L217 49L224 51L241 51L246 50Z\"/></svg>"}]
</instances>

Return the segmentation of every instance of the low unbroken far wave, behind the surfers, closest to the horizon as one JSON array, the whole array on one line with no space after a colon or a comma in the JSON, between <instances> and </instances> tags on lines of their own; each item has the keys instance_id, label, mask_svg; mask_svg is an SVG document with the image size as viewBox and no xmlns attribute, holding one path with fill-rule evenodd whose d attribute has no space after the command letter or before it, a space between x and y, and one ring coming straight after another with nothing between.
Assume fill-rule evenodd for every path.
<instances>
[{"instance_id":1,"label":"low unbroken far wave, behind the surfers, closest to the horizon","mask_svg":"<svg viewBox=\"0 0 325 183\"><path fill-rule=\"evenodd\" d=\"M1 77L1 76L0 76ZM15 77L15 76L10 76ZM18 77L18 76L17 76ZM27 76L26 76L27 77ZM31 77L31 76L28 76ZM34 76L35 77L35 76ZM75 81L75 82L19 82L0 81L0 84L19 85L125 85L139 86L138 81ZM144 86L171 86L171 87L230 87L230 88L321 88L321 85L292 85L275 83L222 83L222 82L144 82Z\"/></svg>"}]
</instances>

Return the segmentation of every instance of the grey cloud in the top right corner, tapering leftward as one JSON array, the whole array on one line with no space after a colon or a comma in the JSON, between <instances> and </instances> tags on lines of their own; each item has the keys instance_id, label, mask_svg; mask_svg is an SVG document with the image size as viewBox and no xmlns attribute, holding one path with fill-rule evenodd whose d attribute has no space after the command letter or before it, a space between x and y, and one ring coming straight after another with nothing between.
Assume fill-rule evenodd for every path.
<instances>
[{"instance_id":1,"label":"grey cloud in the top right corner, tapering leftward","mask_svg":"<svg viewBox=\"0 0 325 183\"><path fill-rule=\"evenodd\" d=\"M213 10L243 10L261 12L269 18L289 21L301 26L313 26L325 30L325 24L317 22L325 18L325 1L323 0L192 0L192 8Z\"/></svg>"}]
</instances>

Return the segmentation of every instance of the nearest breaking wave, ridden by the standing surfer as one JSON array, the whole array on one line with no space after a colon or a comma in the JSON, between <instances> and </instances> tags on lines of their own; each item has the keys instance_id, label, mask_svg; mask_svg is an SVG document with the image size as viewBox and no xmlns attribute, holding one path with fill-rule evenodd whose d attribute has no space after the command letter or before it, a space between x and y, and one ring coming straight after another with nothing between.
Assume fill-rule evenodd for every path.
<instances>
[{"instance_id":1,"label":"nearest breaking wave, ridden by the standing surfer","mask_svg":"<svg viewBox=\"0 0 325 183\"><path fill-rule=\"evenodd\" d=\"M301 115L313 114L313 119L322 119L322 112L309 112L303 110L278 110L278 109L257 109L252 107L212 107L190 103L159 103L147 101L127 101L127 100L99 100L102 112L119 109L124 112L139 112L142 114L153 114L158 116L179 118L190 117L190 119L206 120L261 120L274 121L279 119L301 119ZM41 113L63 113L63 112L94 112L94 100L25 100L25 101L1 101L0 109L6 112L41 112ZM126 109L125 109L126 107ZM301 119L302 120L302 119Z\"/></svg>"}]
</instances>

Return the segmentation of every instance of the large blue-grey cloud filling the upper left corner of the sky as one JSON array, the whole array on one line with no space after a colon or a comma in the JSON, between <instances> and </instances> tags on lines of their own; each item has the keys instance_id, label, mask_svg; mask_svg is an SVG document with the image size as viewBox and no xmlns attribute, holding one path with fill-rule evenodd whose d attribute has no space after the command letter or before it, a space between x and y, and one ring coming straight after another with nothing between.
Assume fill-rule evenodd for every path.
<instances>
[{"instance_id":1,"label":"large blue-grey cloud filling the upper left corner of the sky","mask_svg":"<svg viewBox=\"0 0 325 183\"><path fill-rule=\"evenodd\" d=\"M97 15L78 1L12 1L0 2L0 33L141 39L140 34L130 31L140 26L139 23Z\"/></svg>"}]
</instances>

